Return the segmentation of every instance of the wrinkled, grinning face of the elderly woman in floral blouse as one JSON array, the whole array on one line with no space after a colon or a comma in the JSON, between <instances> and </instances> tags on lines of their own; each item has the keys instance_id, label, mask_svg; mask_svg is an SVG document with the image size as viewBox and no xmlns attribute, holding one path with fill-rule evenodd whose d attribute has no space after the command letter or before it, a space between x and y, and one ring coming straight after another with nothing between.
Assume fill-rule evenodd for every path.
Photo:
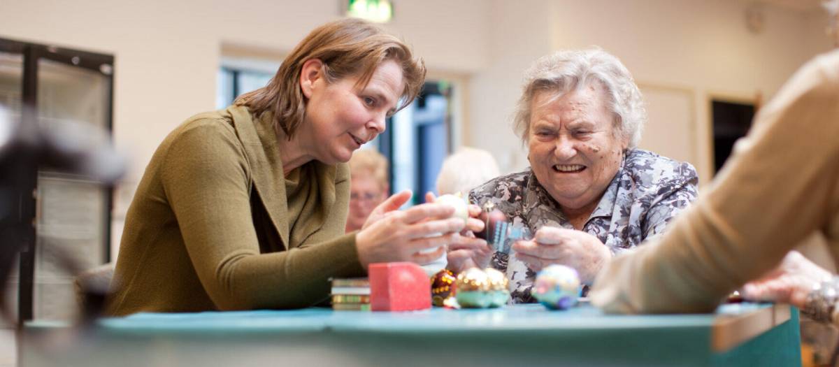
<instances>
[{"instance_id":1,"label":"wrinkled, grinning face of the elderly woman in floral blouse","mask_svg":"<svg viewBox=\"0 0 839 367\"><path fill-rule=\"evenodd\" d=\"M549 92L534 96L530 166L539 183L565 209L581 209L599 200L623 159L626 143L614 131L603 96L599 83L555 101L550 101Z\"/></svg>"}]
</instances>

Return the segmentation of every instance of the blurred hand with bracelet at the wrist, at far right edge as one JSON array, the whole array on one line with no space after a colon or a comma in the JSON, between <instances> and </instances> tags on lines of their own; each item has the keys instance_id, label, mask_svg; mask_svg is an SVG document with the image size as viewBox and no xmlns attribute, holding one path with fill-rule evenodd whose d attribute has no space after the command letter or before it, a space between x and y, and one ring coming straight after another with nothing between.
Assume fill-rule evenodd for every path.
<instances>
[{"instance_id":1,"label":"blurred hand with bracelet at the wrist, at far right edge","mask_svg":"<svg viewBox=\"0 0 839 367\"><path fill-rule=\"evenodd\" d=\"M743 298L753 301L789 303L804 308L813 286L830 279L831 273L807 260L798 251L789 251L780 265L758 280L743 286Z\"/></svg>"}]
</instances>

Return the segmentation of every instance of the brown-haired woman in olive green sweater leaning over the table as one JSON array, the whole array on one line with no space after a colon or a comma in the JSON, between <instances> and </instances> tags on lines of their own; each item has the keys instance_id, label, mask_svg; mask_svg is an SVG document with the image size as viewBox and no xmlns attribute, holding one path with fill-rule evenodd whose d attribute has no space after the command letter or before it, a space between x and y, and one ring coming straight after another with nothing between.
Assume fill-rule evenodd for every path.
<instances>
[{"instance_id":1,"label":"brown-haired woman in olive green sweater leaning over the table","mask_svg":"<svg viewBox=\"0 0 839 367\"><path fill-rule=\"evenodd\" d=\"M439 219L452 214L445 205L395 210L409 192L343 233L346 162L424 77L399 39L344 19L315 28L236 106L185 121L154 153L128 209L107 312L302 308L326 300L330 277L363 276L370 263L486 246L458 234L482 222Z\"/></svg>"}]
</instances>

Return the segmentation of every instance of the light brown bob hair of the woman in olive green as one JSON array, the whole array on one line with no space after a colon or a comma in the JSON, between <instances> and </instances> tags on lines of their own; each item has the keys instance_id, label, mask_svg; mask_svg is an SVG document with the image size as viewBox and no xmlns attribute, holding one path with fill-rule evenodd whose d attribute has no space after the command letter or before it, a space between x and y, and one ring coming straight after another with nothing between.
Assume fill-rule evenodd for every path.
<instances>
[{"instance_id":1,"label":"light brown bob hair of the woman in olive green","mask_svg":"<svg viewBox=\"0 0 839 367\"><path fill-rule=\"evenodd\" d=\"M404 42L373 23L347 18L311 31L283 60L268 85L239 96L234 105L247 106L255 116L272 113L274 129L282 129L290 140L305 119L306 98L300 90L300 72L310 59L323 62L321 74L327 82L357 76L357 87L367 85L378 65L395 61L404 80L397 111L414 101L425 81L425 63L414 59Z\"/></svg>"}]
</instances>

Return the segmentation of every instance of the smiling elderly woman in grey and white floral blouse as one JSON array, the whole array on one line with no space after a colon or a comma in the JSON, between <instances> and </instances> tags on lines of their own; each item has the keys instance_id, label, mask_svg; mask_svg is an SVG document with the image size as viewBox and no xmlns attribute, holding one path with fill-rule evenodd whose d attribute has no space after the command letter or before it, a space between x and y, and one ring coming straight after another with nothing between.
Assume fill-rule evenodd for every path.
<instances>
[{"instance_id":1,"label":"smiling elderly woman in grey and white floral blouse","mask_svg":"<svg viewBox=\"0 0 839 367\"><path fill-rule=\"evenodd\" d=\"M591 284L613 255L662 233L696 199L696 170L638 149L644 126L632 75L602 49L544 56L525 73L515 130L530 168L473 189L472 203L534 232L515 256L472 251L478 264L506 271L513 302L534 302L535 272L575 268Z\"/></svg>"}]
</instances>

